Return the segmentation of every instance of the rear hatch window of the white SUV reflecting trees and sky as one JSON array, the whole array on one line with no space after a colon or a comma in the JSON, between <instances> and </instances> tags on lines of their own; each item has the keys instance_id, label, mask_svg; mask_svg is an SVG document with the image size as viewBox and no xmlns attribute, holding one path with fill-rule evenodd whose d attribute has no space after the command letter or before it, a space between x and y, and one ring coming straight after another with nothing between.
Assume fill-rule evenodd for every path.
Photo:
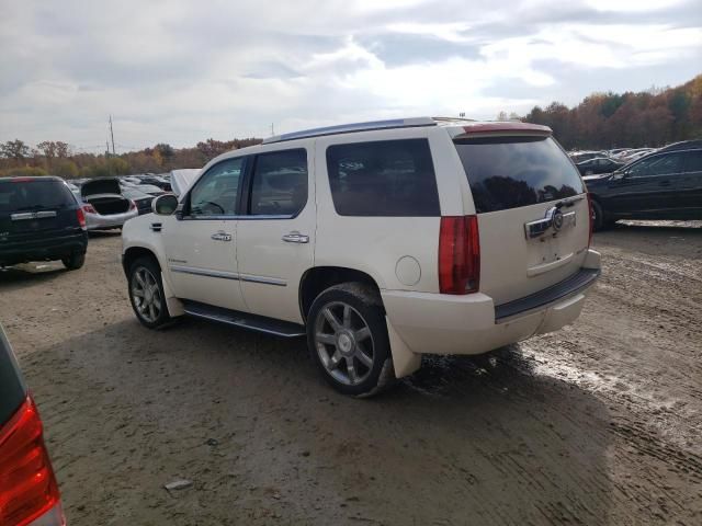
<instances>
[{"instance_id":1,"label":"rear hatch window of the white SUV reflecting trees and sky","mask_svg":"<svg viewBox=\"0 0 702 526\"><path fill-rule=\"evenodd\" d=\"M580 174L551 137L454 140L478 214L585 192Z\"/></svg>"}]
</instances>

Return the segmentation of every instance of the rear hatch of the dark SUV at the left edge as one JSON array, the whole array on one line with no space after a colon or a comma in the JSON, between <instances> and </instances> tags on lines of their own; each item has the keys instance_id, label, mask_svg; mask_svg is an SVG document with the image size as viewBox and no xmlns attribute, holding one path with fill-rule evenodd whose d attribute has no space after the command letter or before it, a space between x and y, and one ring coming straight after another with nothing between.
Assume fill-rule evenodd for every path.
<instances>
[{"instance_id":1,"label":"rear hatch of the dark SUV at the left edge","mask_svg":"<svg viewBox=\"0 0 702 526\"><path fill-rule=\"evenodd\" d=\"M58 179L0 181L0 250L12 242L68 236L81 230L78 203Z\"/></svg>"}]
</instances>

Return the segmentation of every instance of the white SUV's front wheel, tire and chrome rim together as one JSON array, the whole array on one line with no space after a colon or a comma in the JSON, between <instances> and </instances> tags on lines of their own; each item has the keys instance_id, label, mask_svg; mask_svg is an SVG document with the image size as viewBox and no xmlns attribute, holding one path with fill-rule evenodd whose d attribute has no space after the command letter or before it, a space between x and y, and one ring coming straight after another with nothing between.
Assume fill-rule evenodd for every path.
<instances>
[{"instance_id":1,"label":"white SUV's front wheel, tire and chrome rim together","mask_svg":"<svg viewBox=\"0 0 702 526\"><path fill-rule=\"evenodd\" d=\"M171 321L166 306L161 270L151 258L139 258L129 267L129 301L136 318L149 329Z\"/></svg>"}]
</instances>

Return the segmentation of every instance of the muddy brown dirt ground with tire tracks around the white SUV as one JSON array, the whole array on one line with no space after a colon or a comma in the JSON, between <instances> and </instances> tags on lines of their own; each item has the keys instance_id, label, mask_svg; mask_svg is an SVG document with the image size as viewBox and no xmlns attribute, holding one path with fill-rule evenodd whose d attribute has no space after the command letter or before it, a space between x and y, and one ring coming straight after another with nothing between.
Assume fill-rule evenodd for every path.
<instances>
[{"instance_id":1,"label":"muddy brown dirt ground with tire tracks around the white SUV","mask_svg":"<svg viewBox=\"0 0 702 526\"><path fill-rule=\"evenodd\" d=\"M595 244L574 325L372 400L330 390L304 341L143 328L118 235L77 272L0 272L0 320L70 526L702 524L702 225Z\"/></svg>"}]
</instances>

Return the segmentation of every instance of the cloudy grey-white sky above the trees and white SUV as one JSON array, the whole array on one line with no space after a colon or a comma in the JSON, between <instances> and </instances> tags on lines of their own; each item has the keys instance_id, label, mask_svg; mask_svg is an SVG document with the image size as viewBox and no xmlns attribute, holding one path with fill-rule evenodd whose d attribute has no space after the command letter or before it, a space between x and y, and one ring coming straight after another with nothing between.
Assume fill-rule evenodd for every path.
<instances>
[{"instance_id":1,"label":"cloudy grey-white sky above the trees and white SUV","mask_svg":"<svg viewBox=\"0 0 702 526\"><path fill-rule=\"evenodd\" d=\"M496 118L702 73L702 0L0 0L0 141Z\"/></svg>"}]
</instances>

